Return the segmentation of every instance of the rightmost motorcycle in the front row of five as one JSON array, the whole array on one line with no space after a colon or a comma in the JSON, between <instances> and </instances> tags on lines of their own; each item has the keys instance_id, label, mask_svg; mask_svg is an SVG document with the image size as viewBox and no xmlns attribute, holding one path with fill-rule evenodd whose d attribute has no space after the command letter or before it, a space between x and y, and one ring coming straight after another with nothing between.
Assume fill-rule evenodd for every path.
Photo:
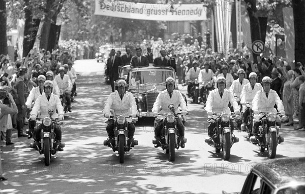
<instances>
[{"instance_id":1,"label":"rightmost motorcycle in the front row of five","mask_svg":"<svg viewBox=\"0 0 305 194\"><path fill-rule=\"evenodd\" d=\"M260 151L268 150L268 158L273 159L277 154L278 144L284 142L284 138L279 135L280 126L276 122L280 113L259 112L258 117L254 117L254 123L260 121L261 126L258 127L258 138L250 138L253 144L258 144Z\"/></svg>"}]
</instances>

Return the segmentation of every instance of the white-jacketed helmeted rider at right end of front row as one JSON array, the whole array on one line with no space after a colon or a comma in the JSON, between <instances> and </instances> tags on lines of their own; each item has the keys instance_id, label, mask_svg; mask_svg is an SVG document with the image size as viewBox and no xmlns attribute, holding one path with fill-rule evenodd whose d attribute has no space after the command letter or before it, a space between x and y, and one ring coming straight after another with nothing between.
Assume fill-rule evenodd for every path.
<instances>
[{"instance_id":1,"label":"white-jacketed helmeted rider at right end of front row","mask_svg":"<svg viewBox=\"0 0 305 194\"><path fill-rule=\"evenodd\" d=\"M262 79L262 89L258 91L252 101L252 109L254 112L254 117L258 116L259 112L273 112L277 113L278 111L284 115L285 110L283 106L283 102L280 99L278 93L275 90L270 89L272 79L268 76L264 76ZM277 109L274 107L275 104L277 105ZM253 142L258 139L258 127L261 124L261 121L259 121L259 118L257 118L257 121L253 126L253 135L250 137L250 140L254 140ZM277 119L276 125L281 127L281 121ZM283 137L279 137L279 143L284 141Z\"/></svg>"}]
</instances>

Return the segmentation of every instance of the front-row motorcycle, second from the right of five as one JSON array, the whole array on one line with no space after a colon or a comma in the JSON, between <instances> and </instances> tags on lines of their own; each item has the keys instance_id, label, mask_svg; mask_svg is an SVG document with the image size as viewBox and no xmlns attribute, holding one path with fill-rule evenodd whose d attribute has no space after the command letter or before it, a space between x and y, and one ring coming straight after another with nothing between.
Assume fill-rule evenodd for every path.
<instances>
[{"instance_id":1,"label":"front-row motorcycle, second from the right of five","mask_svg":"<svg viewBox=\"0 0 305 194\"><path fill-rule=\"evenodd\" d=\"M234 121L234 113L213 113L209 118L209 123L216 123L216 127L213 131L212 136L212 144L207 142L206 143L215 147L215 151L219 153L221 149L223 150L223 159L229 160L231 154L231 147L234 143L237 143L239 139L235 137L235 135L231 134L231 128L233 126L230 125L230 120Z\"/></svg>"}]
</instances>

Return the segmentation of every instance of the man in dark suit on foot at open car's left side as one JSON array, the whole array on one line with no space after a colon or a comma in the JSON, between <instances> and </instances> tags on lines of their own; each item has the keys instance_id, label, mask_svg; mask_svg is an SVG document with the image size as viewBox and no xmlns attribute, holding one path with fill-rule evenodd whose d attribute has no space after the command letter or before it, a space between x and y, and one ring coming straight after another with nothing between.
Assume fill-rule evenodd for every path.
<instances>
[{"instance_id":1,"label":"man in dark suit on foot at open car's left side","mask_svg":"<svg viewBox=\"0 0 305 194\"><path fill-rule=\"evenodd\" d=\"M115 50L110 51L110 57L107 60L106 75L109 75L112 92L114 92L114 82L118 80L118 66L122 66L122 61L115 56Z\"/></svg>"}]
</instances>

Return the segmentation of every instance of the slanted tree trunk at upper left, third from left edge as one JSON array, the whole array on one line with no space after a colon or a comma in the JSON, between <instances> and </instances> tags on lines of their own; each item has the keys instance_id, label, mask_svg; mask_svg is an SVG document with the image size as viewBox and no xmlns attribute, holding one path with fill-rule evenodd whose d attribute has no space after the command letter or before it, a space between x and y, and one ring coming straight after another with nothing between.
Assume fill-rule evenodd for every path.
<instances>
[{"instance_id":1,"label":"slanted tree trunk at upper left, third from left edge","mask_svg":"<svg viewBox=\"0 0 305 194\"><path fill-rule=\"evenodd\" d=\"M48 48L48 40L49 40L49 33L51 27L51 19L52 19L52 5L54 0L47 0L46 9L44 10L44 20L43 26L41 29L41 36L40 36L40 49L47 50ZM51 51L50 51L51 52Z\"/></svg>"}]
</instances>

